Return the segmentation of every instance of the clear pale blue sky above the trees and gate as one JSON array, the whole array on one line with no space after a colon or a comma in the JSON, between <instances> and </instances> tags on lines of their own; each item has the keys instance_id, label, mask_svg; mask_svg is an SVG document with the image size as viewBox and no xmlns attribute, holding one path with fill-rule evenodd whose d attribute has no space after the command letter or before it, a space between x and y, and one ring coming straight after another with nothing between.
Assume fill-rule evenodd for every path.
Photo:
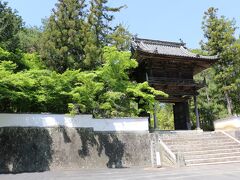
<instances>
[{"instance_id":1,"label":"clear pale blue sky above the trees and gate","mask_svg":"<svg viewBox=\"0 0 240 180\"><path fill-rule=\"evenodd\" d=\"M18 10L26 25L41 25L57 0L5 0ZM201 22L209 7L219 8L219 15L235 18L240 26L239 0L109 0L113 6L127 5L116 14L114 23L123 23L138 37L167 41L181 38L189 48L198 48L203 38ZM238 32L239 33L239 30Z\"/></svg>"}]
</instances>

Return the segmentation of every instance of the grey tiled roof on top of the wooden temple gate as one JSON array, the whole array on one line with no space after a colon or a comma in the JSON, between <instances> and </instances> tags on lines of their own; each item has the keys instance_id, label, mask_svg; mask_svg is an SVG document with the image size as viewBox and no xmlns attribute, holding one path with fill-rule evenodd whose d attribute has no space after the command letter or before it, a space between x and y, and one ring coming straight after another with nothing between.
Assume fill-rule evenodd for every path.
<instances>
[{"instance_id":1,"label":"grey tiled roof on top of the wooden temple gate","mask_svg":"<svg viewBox=\"0 0 240 180\"><path fill-rule=\"evenodd\" d=\"M132 48L135 51L138 50L151 54L189 57L206 60L218 59L218 56L202 56L192 53L185 47L185 43L178 42L134 38L132 41Z\"/></svg>"}]
</instances>

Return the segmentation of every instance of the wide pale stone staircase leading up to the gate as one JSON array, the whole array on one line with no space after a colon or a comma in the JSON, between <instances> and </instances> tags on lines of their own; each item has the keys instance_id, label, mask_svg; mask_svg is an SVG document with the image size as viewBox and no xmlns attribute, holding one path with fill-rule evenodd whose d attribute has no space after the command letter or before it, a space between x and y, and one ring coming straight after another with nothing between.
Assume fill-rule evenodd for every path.
<instances>
[{"instance_id":1,"label":"wide pale stone staircase leading up to the gate","mask_svg":"<svg viewBox=\"0 0 240 180\"><path fill-rule=\"evenodd\" d=\"M186 166L240 162L240 143L222 132L174 132L160 134L160 140Z\"/></svg>"}]
</instances>

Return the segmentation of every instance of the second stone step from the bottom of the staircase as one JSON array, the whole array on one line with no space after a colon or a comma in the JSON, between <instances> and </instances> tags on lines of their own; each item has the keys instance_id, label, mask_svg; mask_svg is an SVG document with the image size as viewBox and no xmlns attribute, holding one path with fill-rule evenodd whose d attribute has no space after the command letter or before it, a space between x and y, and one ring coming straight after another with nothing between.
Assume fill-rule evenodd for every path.
<instances>
[{"instance_id":1,"label":"second stone step from the bottom of the staircase","mask_svg":"<svg viewBox=\"0 0 240 180\"><path fill-rule=\"evenodd\" d=\"M212 154L197 154L197 155L185 155L185 160L197 160L197 159L208 159L208 158L221 158L221 157L229 157L229 156L239 156L239 152L228 152L228 153L212 153Z\"/></svg>"}]
</instances>

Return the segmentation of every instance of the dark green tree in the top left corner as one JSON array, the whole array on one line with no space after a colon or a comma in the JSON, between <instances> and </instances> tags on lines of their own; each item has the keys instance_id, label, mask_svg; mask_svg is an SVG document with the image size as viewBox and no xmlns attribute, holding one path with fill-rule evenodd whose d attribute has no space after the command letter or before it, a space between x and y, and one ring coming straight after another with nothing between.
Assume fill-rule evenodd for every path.
<instances>
[{"instance_id":1,"label":"dark green tree in the top left corner","mask_svg":"<svg viewBox=\"0 0 240 180\"><path fill-rule=\"evenodd\" d=\"M19 48L18 32L22 28L22 18L0 1L0 47L14 52Z\"/></svg>"}]
</instances>

